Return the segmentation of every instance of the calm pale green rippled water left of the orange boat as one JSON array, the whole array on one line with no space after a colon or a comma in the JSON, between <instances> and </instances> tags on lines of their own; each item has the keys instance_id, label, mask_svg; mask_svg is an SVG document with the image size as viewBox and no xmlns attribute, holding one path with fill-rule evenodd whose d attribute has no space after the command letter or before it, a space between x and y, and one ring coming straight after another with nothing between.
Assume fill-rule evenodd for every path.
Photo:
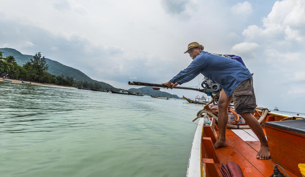
<instances>
[{"instance_id":1,"label":"calm pale green rippled water left of the orange boat","mask_svg":"<svg viewBox=\"0 0 305 177\"><path fill-rule=\"evenodd\" d=\"M0 82L1 176L185 176L200 105Z\"/></svg>"}]
</instances>

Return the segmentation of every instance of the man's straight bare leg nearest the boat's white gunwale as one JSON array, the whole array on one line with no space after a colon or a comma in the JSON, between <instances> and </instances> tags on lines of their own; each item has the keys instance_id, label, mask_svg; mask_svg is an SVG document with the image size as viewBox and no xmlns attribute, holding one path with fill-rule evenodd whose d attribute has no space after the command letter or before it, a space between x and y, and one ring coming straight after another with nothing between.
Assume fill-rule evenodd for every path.
<instances>
[{"instance_id":1,"label":"man's straight bare leg nearest the boat's white gunwale","mask_svg":"<svg viewBox=\"0 0 305 177\"><path fill-rule=\"evenodd\" d=\"M218 100L218 129L219 137L214 144L215 149L219 147L228 146L226 142L226 128L228 124L228 106L231 103L233 97L227 97L224 89L221 89L219 100Z\"/></svg>"}]
</instances>

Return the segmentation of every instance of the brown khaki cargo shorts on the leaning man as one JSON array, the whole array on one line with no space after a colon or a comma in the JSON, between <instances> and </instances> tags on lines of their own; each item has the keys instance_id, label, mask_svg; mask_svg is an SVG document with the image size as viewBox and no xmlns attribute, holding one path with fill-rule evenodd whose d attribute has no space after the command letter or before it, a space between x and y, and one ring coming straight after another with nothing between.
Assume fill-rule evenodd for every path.
<instances>
[{"instance_id":1,"label":"brown khaki cargo shorts on the leaning man","mask_svg":"<svg viewBox=\"0 0 305 177\"><path fill-rule=\"evenodd\" d=\"M242 81L232 93L236 113L253 113L256 99L253 88L253 78Z\"/></svg>"}]
</instances>

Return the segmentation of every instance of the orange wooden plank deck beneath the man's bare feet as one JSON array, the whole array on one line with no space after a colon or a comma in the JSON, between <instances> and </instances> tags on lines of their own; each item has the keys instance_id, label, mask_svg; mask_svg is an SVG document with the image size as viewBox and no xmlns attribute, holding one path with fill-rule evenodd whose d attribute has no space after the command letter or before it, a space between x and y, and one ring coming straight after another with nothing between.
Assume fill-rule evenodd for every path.
<instances>
[{"instance_id":1,"label":"orange wooden plank deck beneath the man's bare feet","mask_svg":"<svg viewBox=\"0 0 305 177\"><path fill-rule=\"evenodd\" d=\"M233 131L232 131L233 130ZM236 129L235 129L236 130ZM244 141L241 137L234 133L234 129L226 130L226 140L227 147L221 147L216 151L217 157L220 161L220 164L216 164L218 174L221 175L218 167L221 166L221 163L227 163L229 161L239 164L244 176L270 176L273 174L273 167L275 163L269 160L260 160L256 158L257 152L260 150L259 141ZM240 129L238 129L240 130ZM245 131L247 134L248 130ZM265 131L264 131L265 132ZM218 132L217 132L218 134ZM251 135L251 130L248 132ZM265 133L266 135L266 133ZM254 135L255 136L255 135ZM257 137L252 136L252 140L257 140ZM251 138L249 138L251 139ZM285 168L284 168L285 169ZM280 170L281 171L281 170ZM285 171L292 177L296 176L292 172L289 172L287 169Z\"/></svg>"}]
</instances>

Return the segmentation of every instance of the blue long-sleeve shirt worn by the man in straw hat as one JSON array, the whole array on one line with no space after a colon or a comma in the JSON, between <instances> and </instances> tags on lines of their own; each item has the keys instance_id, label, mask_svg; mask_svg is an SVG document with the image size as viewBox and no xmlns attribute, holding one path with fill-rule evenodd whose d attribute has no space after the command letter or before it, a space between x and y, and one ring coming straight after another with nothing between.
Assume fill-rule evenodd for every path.
<instances>
[{"instance_id":1,"label":"blue long-sleeve shirt worn by the man in straw hat","mask_svg":"<svg viewBox=\"0 0 305 177\"><path fill-rule=\"evenodd\" d=\"M248 68L238 61L201 51L187 68L170 81L181 85L191 81L200 73L220 84L228 97L242 81L252 77Z\"/></svg>"}]
</instances>

